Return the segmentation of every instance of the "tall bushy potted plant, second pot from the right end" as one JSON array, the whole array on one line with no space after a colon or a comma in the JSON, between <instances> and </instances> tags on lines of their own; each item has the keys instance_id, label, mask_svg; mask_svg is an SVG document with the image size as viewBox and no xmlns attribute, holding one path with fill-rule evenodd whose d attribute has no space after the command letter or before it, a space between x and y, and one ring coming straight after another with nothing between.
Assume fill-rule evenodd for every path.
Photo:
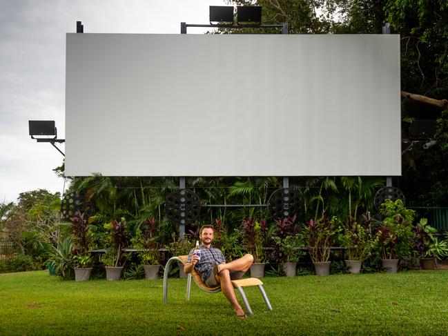
<instances>
[{"instance_id":1,"label":"tall bushy potted plant, second pot from the right end","mask_svg":"<svg viewBox=\"0 0 448 336\"><path fill-rule=\"evenodd\" d=\"M411 223L413 210L405 208L401 199L386 201L381 206L384 216L376 241L380 248L382 267L387 273L397 273L398 261L411 255Z\"/></svg>"}]
</instances>

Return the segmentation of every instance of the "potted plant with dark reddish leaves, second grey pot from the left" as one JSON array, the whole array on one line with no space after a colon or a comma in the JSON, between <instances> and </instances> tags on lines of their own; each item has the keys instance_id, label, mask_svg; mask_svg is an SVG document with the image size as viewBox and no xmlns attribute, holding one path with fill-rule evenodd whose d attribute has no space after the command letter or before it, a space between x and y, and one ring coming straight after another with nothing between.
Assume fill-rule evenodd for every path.
<instances>
[{"instance_id":1,"label":"potted plant with dark reddish leaves, second grey pot from the left","mask_svg":"<svg viewBox=\"0 0 448 336\"><path fill-rule=\"evenodd\" d=\"M126 221L112 220L104 224L106 230L110 230L108 242L110 248L102 261L106 265L106 279L109 281L119 280L123 270L124 256L122 250L128 246L128 236L126 235Z\"/></svg>"}]
</instances>

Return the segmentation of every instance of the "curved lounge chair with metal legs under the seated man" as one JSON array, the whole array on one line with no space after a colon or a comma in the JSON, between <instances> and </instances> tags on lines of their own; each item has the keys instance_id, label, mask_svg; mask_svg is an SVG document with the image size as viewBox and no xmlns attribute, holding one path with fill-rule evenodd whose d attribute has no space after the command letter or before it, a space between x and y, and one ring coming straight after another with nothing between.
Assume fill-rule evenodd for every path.
<instances>
[{"instance_id":1,"label":"curved lounge chair with metal legs under the seated man","mask_svg":"<svg viewBox=\"0 0 448 336\"><path fill-rule=\"evenodd\" d=\"M186 260L188 259L188 255L179 255L178 257L171 257L167 262L165 266L165 272L164 272L164 304L168 303L168 274L170 272L171 263L173 261L179 261L180 263L185 264ZM180 266L182 267L182 266ZM218 293L221 291L221 287L208 287L206 284L204 284L204 281L202 281L202 278L200 275L193 270L190 274L187 276L186 281L186 301L190 301L190 294L191 294L191 278L195 281L195 284L202 290L204 290L207 293ZM263 288L263 282L260 279L257 279L256 277L251 277L248 279L240 279L240 280L232 280L233 287L237 288L238 292L240 293L244 306L246 306L246 310L249 314L253 315L251 305L249 304L249 301L247 301L246 294L244 293L243 287L247 286L258 286L258 289L260 289L260 292L262 293L264 302L266 302L266 306L268 306L269 310L272 310L271 302L269 302L269 299L266 295L266 292Z\"/></svg>"}]
</instances>

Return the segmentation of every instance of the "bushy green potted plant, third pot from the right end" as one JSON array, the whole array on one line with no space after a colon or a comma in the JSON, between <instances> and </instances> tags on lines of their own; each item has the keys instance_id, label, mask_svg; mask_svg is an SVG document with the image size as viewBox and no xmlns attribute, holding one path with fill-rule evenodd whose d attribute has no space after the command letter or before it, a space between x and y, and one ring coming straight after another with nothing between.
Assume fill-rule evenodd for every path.
<instances>
[{"instance_id":1,"label":"bushy green potted plant, third pot from the right end","mask_svg":"<svg viewBox=\"0 0 448 336\"><path fill-rule=\"evenodd\" d=\"M341 240L347 255L347 259L344 261L350 273L360 273L362 261L371 255L376 245L366 228L368 225L369 220L365 217L364 226L350 217L349 223L344 227Z\"/></svg>"}]
</instances>

